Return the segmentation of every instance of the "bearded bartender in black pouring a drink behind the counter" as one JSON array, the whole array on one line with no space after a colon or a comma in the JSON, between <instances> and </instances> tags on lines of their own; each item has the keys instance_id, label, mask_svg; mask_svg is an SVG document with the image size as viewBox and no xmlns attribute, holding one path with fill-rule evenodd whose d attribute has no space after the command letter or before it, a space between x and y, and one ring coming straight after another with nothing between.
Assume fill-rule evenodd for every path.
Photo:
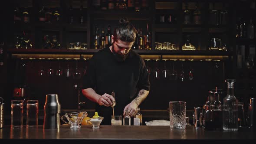
<instances>
[{"instance_id":1,"label":"bearded bartender in black pouring a drink behind the counter","mask_svg":"<svg viewBox=\"0 0 256 144\"><path fill-rule=\"evenodd\" d=\"M112 46L101 49L90 59L82 93L97 103L95 110L104 117L102 125L111 125L113 101L116 102L115 115L125 115L128 109L133 117L148 96L150 82L144 60L131 50L136 34L131 23L120 19L111 36Z\"/></svg>"}]
</instances>

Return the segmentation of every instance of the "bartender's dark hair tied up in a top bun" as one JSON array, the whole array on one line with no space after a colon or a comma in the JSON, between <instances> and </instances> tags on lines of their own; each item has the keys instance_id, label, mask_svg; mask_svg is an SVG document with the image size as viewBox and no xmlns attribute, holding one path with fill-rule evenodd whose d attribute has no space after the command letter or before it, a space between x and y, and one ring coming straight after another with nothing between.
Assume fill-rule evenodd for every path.
<instances>
[{"instance_id":1,"label":"bartender's dark hair tied up in a top bun","mask_svg":"<svg viewBox=\"0 0 256 144\"><path fill-rule=\"evenodd\" d=\"M124 42L135 42L137 30L135 27L125 19L120 19L118 26L114 30L114 40L121 40Z\"/></svg>"}]
</instances>

